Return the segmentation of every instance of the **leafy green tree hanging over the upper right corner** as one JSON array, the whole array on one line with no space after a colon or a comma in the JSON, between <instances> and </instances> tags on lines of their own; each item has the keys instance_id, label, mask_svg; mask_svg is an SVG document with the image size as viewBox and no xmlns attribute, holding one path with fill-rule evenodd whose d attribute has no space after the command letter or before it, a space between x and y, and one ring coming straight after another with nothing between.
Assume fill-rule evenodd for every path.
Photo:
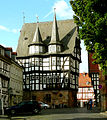
<instances>
[{"instance_id":1,"label":"leafy green tree hanging over the upper right corner","mask_svg":"<svg viewBox=\"0 0 107 120\"><path fill-rule=\"evenodd\" d=\"M107 2L106 0L71 0L74 21L79 26L79 37L88 52L93 52L94 63L107 70Z\"/></svg>"}]
</instances>

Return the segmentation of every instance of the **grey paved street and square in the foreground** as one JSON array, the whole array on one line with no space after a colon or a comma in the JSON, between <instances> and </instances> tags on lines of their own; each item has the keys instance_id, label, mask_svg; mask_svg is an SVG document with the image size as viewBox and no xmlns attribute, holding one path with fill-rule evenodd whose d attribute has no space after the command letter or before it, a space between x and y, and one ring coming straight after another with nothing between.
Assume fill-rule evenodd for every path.
<instances>
[{"instance_id":1,"label":"grey paved street and square in the foreground","mask_svg":"<svg viewBox=\"0 0 107 120\"><path fill-rule=\"evenodd\" d=\"M107 120L106 114L101 114L97 108L62 108L43 110L38 115L22 115L7 118L0 116L0 120Z\"/></svg>"}]
</instances>

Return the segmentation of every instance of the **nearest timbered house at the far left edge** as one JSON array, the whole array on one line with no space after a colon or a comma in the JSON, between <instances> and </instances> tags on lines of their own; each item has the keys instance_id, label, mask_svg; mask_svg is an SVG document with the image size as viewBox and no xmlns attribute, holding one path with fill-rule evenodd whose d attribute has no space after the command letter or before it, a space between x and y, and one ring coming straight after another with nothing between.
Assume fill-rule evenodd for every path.
<instances>
[{"instance_id":1,"label":"nearest timbered house at the far left edge","mask_svg":"<svg viewBox=\"0 0 107 120\"><path fill-rule=\"evenodd\" d=\"M0 114L8 106L8 84L10 81L11 60L5 56L5 48L0 45Z\"/></svg>"}]
</instances>

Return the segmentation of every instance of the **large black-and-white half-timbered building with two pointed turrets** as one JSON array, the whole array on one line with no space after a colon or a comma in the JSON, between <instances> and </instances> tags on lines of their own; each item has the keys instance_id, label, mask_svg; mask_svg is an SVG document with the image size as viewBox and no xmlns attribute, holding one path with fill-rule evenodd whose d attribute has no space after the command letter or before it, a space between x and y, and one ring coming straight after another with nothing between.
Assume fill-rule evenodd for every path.
<instances>
[{"instance_id":1,"label":"large black-and-white half-timbered building with two pointed turrets","mask_svg":"<svg viewBox=\"0 0 107 120\"><path fill-rule=\"evenodd\" d=\"M25 23L17 46L24 66L23 99L64 107L76 104L79 63L78 27L73 20Z\"/></svg>"}]
</instances>

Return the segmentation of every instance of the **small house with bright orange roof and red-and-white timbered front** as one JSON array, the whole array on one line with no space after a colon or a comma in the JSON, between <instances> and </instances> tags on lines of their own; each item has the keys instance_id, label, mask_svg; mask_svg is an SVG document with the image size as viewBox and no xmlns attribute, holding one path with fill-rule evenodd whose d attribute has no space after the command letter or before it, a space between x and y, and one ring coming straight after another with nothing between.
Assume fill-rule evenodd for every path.
<instances>
[{"instance_id":1,"label":"small house with bright orange roof and red-and-white timbered front","mask_svg":"<svg viewBox=\"0 0 107 120\"><path fill-rule=\"evenodd\" d=\"M78 106L85 107L85 105L87 105L90 99L92 99L94 104L95 94L89 74L80 73L78 82L79 82L78 93L77 93Z\"/></svg>"}]
</instances>

